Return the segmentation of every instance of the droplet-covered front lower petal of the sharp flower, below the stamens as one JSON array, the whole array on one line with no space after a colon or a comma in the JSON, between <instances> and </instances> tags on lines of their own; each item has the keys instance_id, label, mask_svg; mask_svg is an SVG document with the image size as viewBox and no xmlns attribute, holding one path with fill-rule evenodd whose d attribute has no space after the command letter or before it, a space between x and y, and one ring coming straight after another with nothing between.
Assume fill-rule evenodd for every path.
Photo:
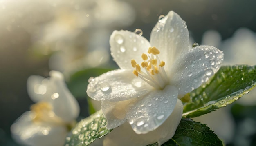
<instances>
[{"instance_id":1,"label":"droplet-covered front lower petal of the sharp flower, below the stamens","mask_svg":"<svg viewBox=\"0 0 256 146\"><path fill-rule=\"evenodd\" d=\"M177 96L177 88L168 85L130 104L126 118L135 133L148 133L160 126L173 112Z\"/></svg>"}]
</instances>

